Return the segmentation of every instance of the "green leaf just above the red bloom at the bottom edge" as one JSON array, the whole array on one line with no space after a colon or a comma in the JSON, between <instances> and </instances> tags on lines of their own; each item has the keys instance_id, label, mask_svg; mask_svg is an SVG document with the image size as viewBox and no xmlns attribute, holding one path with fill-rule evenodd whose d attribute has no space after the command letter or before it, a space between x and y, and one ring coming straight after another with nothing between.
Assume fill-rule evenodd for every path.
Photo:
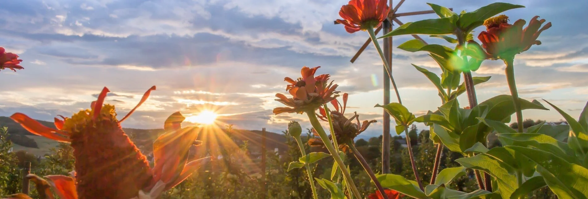
<instances>
[{"instance_id":1,"label":"green leaf just above the red bloom at the bottom edge","mask_svg":"<svg viewBox=\"0 0 588 199\"><path fill-rule=\"evenodd\" d=\"M427 195L420 190L419 184L412 180L406 180L402 175L395 174L380 174L377 175L377 181L380 181L382 187L396 190L402 194L408 195L413 198L427 199Z\"/></svg>"}]
</instances>

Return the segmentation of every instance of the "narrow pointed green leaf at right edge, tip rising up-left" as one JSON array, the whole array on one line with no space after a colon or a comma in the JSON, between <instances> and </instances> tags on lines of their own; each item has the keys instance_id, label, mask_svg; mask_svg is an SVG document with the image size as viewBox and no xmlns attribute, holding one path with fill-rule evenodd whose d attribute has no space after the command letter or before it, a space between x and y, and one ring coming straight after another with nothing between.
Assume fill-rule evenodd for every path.
<instances>
[{"instance_id":1,"label":"narrow pointed green leaf at right edge, tip rising up-left","mask_svg":"<svg viewBox=\"0 0 588 199\"><path fill-rule=\"evenodd\" d=\"M586 155L586 152L588 151L588 134L586 134L586 130L584 130L582 124L574 120L572 116L568 115L566 112L563 112L555 105L549 103L548 101L545 102L555 108L555 110L557 110L557 112L559 112L559 114L561 114L563 118L566 119L567 124L570 125L570 128L572 128L572 131L570 131L569 137L567 138L567 143L570 145L570 148L573 148L574 151L576 151L576 153L580 154L582 157Z\"/></svg>"}]
</instances>

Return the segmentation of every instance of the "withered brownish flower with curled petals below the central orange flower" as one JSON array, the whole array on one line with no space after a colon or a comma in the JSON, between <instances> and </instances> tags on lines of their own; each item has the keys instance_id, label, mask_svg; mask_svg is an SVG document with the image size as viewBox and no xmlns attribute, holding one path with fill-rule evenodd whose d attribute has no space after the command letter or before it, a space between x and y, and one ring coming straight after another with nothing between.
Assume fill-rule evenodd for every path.
<instances>
[{"instance_id":1,"label":"withered brownish flower with curled petals below the central orange flower","mask_svg":"<svg viewBox=\"0 0 588 199\"><path fill-rule=\"evenodd\" d=\"M351 118L345 117L345 109L347 107L347 99L349 94L343 94L343 104L339 102L339 100L332 100L331 104L335 107L335 111L330 112L331 120L333 122L333 130L335 131L335 137L337 138L337 144L339 144L339 148L343 151L347 151L347 143L353 141L355 137L357 137L360 133L367 130L369 125L373 122L377 122L376 120L370 121L363 121L362 123L359 122L359 115L355 112L355 115ZM323 121L329 121L326 115L325 109L319 107L320 114L317 114L318 118ZM353 120L356 120L357 123L353 123ZM312 129L312 133L315 135L316 138L310 138L308 140L308 144L311 146L316 145L324 145L325 143L321 140L318 136L318 133L315 129ZM332 140L332 135L329 135L329 140Z\"/></svg>"}]
</instances>

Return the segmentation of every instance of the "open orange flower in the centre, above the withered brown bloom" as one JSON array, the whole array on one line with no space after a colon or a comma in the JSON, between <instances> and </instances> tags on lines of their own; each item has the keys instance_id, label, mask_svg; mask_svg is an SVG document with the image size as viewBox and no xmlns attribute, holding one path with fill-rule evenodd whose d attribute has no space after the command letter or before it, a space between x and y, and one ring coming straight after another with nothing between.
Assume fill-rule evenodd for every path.
<instances>
[{"instance_id":1,"label":"open orange flower in the centre, above the withered brown bloom","mask_svg":"<svg viewBox=\"0 0 588 199\"><path fill-rule=\"evenodd\" d=\"M316 69L302 67L302 77L294 81L292 78L286 77L284 81L290 84L286 86L286 91L290 92L292 98L287 98L286 95L276 94L276 101L282 102L282 104L288 107L278 107L273 109L273 114L280 114L283 112L299 112L314 111L320 107L320 105L326 104L329 101L334 100L339 93L335 91L338 85L333 84L329 81L329 74L323 74L315 77ZM335 95L333 95L335 94Z\"/></svg>"}]
</instances>

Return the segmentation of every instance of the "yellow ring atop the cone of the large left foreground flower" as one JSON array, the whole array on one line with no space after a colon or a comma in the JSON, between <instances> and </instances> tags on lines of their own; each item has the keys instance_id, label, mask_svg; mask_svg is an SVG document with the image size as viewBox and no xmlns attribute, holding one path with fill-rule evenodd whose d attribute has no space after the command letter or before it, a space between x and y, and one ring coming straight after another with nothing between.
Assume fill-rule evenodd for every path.
<instances>
[{"instance_id":1,"label":"yellow ring atop the cone of the large left foreground flower","mask_svg":"<svg viewBox=\"0 0 588 199\"><path fill-rule=\"evenodd\" d=\"M86 125L90 124L93 115L93 109L79 111L78 113L72 115L71 118L65 118L63 130L71 133L77 132L76 130L81 130L82 128L85 128ZM106 119L116 122L116 111L114 105L103 105L98 119Z\"/></svg>"}]
</instances>

